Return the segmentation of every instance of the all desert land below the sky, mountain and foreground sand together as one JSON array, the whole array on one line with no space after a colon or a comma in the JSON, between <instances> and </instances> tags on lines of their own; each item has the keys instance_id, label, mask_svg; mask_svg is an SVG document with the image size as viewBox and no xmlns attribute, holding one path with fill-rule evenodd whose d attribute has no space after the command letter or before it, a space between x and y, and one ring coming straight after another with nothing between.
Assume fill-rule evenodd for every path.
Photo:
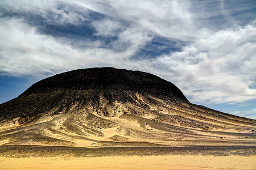
<instances>
[{"instance_id":1,"label":"all desert land below the sky, mountain and foreground sand together","mask_svg":"<svg viewBox=\"0 0 256 170\"><path fill-rule=\"evenodd\" d=\"M255 120L192 104L141 71L68 71L0 108L2 169L255 168Z\"/></svg>"}]
</instances>

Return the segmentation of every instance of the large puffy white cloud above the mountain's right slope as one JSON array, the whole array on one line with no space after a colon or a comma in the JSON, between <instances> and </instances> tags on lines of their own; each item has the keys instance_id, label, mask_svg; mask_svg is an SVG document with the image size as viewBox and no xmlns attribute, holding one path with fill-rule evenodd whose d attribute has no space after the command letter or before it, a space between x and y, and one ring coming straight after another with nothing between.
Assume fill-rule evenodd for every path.
<instances>
[{"instance_id":1,"label":"large puffy white cloud above the mountain's right slope","mask_svg":"<svg viewBox=\"0 0 256 170\"><path fill-rule=\"evenodd\" d=\"M193 102L238 103L256 99L256 27L251 24L197 39L158 60L174 70L177 86Z\"/></svg>"}]
</instances>

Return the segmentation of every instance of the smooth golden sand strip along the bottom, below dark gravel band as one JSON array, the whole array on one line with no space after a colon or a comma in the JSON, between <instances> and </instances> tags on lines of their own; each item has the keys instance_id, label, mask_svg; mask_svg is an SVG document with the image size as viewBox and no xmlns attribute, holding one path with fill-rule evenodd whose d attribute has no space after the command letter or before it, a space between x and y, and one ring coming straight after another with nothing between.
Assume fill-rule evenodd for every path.
<instances>
[{"instance_id":1,"label":"smooth golden sand strip along the bottom, below dark gravel band","mask_svg":"<svg viewBox=\"0 0 256 170\"><path fill-rule=\"evenodd\" d=\"M0 157L0 169L256 169L256 156Z\"/></svg>"}]
</instances>

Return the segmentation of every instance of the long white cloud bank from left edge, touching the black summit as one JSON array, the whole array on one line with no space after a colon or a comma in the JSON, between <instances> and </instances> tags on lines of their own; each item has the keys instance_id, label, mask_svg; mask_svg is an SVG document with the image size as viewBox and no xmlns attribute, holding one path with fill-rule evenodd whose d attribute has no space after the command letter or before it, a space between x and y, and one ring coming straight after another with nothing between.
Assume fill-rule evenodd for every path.
<instances>
[{"instance_id":1,"label":"long white cloud bank from left edge, touching the black summit","mask_svg":"<svg viewBox=\"0 0 256 170\"><path fill-rule=\"evenodd\" d=\"M101 42L75 49L65 39L40 34L20 19L9 19L0 20L0 39L5 40L0 42L0 71L10 75L36 75L46 70L58 73L84 67L122 67L151 37L137 28L127 28L113 42L123 49L120 52L99 48Z\"/></svg>"}]
</instances>

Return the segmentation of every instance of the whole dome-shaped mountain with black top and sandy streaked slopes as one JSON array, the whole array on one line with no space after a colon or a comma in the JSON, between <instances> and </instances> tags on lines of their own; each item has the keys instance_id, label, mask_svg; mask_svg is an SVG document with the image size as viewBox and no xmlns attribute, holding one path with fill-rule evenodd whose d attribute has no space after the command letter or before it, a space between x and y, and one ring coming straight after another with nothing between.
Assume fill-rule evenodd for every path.
<instances>
[{"instance_id":1,"label":"whole dome-shaped mountain with black top and sandy streaked slopes","mask_svg":"<svg viewBox=\"0 0 256 170\"><path fill-rule=\"evenodd\" d=\"M112 67L51 76L0 105L3 146L255 147L255 130L158 76Z\"/></svg>"}]
</instances>

